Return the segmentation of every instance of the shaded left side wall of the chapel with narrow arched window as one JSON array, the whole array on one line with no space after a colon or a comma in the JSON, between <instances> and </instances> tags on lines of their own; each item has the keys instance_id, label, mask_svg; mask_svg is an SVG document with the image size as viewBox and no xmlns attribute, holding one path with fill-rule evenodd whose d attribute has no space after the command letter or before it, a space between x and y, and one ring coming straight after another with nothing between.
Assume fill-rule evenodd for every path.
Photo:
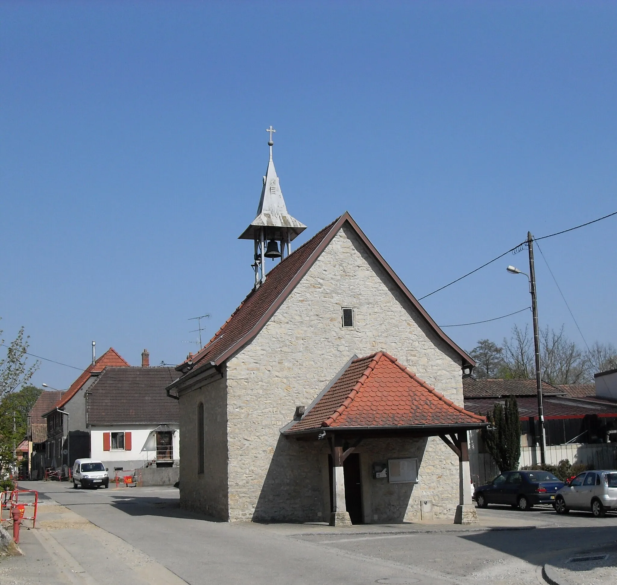
<instances>
[{"instance_id":1,"label":"shaded left side wall of the chapel with narrow arched window","mask_svg":"<svg viewBox=\"0 0 617 585\"><path fill-rule=\"evenodd\" d=\"M197 473L197 405L204 403L204 473ZM180 397L183 439L180 506L228 520L225 378Z\"/></svg>"}]
</instances>

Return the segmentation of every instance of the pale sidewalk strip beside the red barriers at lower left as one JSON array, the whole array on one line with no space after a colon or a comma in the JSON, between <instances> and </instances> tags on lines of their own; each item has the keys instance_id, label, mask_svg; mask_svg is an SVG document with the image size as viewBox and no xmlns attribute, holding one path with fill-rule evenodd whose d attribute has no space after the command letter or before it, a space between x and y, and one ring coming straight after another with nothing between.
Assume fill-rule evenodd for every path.
<instances>
[{"instance_id":1,"label":"pale sidewalk strip beside the red barriers at lower left","mask_svg":"<svg viewBox=\"0 0 617 585\"><path fill-rule=\"evenodd\" d=\"M7 585L186 585L154 559L53 500L39 506L35 529L22 528L25 556L0 560Z\"/></svg>"}]
</instances>

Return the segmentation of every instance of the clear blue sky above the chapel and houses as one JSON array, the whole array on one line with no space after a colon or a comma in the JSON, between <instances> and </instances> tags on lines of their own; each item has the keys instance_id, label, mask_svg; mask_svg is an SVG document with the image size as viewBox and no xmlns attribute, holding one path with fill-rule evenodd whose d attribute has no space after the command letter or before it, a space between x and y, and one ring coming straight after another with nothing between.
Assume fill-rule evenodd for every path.
<instances>
[{"instance_id":1,"label":"clear blue sky above the chapel and houses","mask_svg":"<svg viewBox=\"0 0 617 585\"><path fill-rule=\"evenodd\" d=\"M305 241L345 210L417 296L617 210L613 2L1 2L0 322L80 368L195 351L252 286L275 164ZM541 242L587 341L617 342L617 216ZM508 255L425 299L529 304ZM582 345L537 254L540 325ZM470 349L528 313L447 333ZM34 381L78 371L43 362Z\"/></svg>"}]
</instances>

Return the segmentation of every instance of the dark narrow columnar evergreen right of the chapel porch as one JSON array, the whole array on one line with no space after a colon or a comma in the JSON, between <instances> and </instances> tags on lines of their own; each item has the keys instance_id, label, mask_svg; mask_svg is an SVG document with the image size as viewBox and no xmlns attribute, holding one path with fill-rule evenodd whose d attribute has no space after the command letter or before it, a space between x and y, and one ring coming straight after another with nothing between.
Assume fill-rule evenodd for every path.
<instances>
[{"instance_id":1,"label":"dark narrow columnar evergreen right of the chapel porch","mask_svg":"<svg viewBox=\"0 0 617 585\"><path fill-rule=\"evenodd\" d=\"M505 404L495 402L492 414L486 415L489 428L482 438L499 471L518 469L521 458L521 420L516 398L510 396Z\"/></svg>"}]
</instances>

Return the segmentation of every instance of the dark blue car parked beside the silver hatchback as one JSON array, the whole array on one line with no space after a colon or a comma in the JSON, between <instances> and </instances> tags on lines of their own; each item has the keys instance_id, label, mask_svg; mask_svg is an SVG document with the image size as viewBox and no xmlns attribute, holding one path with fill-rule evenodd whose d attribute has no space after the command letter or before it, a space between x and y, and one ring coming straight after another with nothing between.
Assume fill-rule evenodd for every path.
<instances>
[{"instance_id":1,"label":"dark blue car parked beside the silver hatchback","mask_svg":"<svg viewBox=\"0 0 617 585\"><path fill-rule=\"evenodd\" d=\"M473 492L479 508L489 504L510 504L529 510L534 504L555 504L555 495L565 486L548 471L505 471Z\"/></svg>"}]
</instances>

